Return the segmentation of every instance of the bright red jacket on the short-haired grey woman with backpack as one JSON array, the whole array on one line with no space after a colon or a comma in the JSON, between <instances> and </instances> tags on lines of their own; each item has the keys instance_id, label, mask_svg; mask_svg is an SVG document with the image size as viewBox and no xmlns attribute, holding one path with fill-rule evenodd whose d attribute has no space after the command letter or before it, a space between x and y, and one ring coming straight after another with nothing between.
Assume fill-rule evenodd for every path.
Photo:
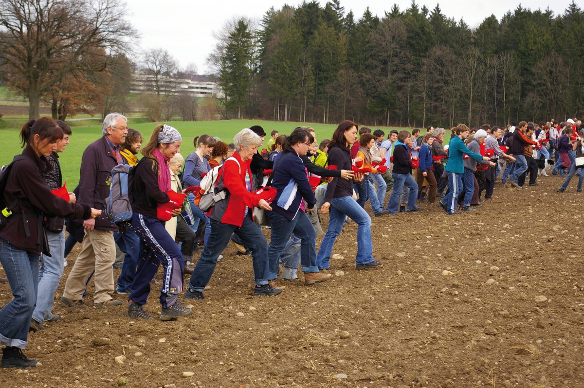
<instances>
[{"instance_id":1,"label":"bright red jacket on the short-haired grey woman with backpack","mask_svg":"<svg viewBox=\"0 0 584 388\"><path fill-rule=\"evenodd\" d=\"M248 207L248 211L253 212L253 207L258 207L262 198L248 191L245 186L245 173L248 173L249 178L252 179L249 167L252 160L243 162L239 152L234 152L233 157L237 159L239 165L234 160L225 160L215 189L218 191L226 188L229 195L223 201L218 201L207 216L215 221L241 226L244 223L245 208Z\"/></svg>"}]
</instances>

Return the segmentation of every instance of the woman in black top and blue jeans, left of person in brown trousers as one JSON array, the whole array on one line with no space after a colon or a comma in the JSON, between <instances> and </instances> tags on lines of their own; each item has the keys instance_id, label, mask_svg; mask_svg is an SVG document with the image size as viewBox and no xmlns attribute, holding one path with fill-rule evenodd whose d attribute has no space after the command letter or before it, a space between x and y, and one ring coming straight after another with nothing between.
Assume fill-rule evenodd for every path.
<instances>
[{"instance_id":1,"label":"woman in black top and blue jeans, left of person in brown trousers","mask_svg":"<svg viewBox=\"0 0 584 388\"><path fill-rule=\"evenodd\" d=\"M412 160L408 152L408 146L411 144L412 134L408 131L399 131L398 139L394 143L394 169L391 174L394 178L394 191L391 193L390 201L387 204L387 211L390 214L398 214L399 212L399 196L404 193L402 197L407 198L406 211L415 212L419 210L416 206L416 198L418 197L418 184L412 177ZM405 202L405 201L404 201Z\"/></svg>"}]
</instances>

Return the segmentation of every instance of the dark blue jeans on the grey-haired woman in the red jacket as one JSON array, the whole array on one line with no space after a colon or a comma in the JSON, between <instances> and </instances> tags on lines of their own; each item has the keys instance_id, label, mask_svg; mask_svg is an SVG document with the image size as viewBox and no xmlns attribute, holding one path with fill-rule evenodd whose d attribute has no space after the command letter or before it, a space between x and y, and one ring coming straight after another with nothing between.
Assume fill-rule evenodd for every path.
<instances>
[{"instance_id":1,"label":"dark blue jeans on the grey-haired woman in the red jacket","mask_svg":"<svg viewBox=\"0 0 584 388\"><path fill-rule=\"evenodd\" d=\"M266 237L258 229L258 225L252 220L251 211L245 216L241 226L221 223L211 219L211 233L208 243L205 244L203 253L197 265L194 267L193 274L190 275L189 288L203 292L205 286L211 279L217 257L223 252L229 239L235 233L244 242L245 246L252 251L253 275L256 285L267 284L270 276L270 264L267 260L267 242Z\"/></svg>"}]
</instances>

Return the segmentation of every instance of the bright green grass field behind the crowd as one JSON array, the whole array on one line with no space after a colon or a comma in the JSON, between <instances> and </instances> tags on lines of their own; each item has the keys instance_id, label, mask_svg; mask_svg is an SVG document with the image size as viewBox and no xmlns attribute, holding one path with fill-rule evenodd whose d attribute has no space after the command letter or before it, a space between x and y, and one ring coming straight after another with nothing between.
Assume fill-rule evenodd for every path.
<instances>
[{"instance_id":1,"label":"bright green grass field behind the crowd","mask_svg":"<svg viewBox=\"0 0 584 388\"><path fill-rule=\"evenodd\" d=\"M20 148L20 127L26 120L20 121L0 121L0 139L2 148L0 151L0 165L10 163L15 155L22 152ZM4 124L4 126L2 126ZM81 120L68 122L71 125L73 134L71 144L67 146L65 152L61 153L60 162L63 180L67 181L67 188L72 190L79 182L79 165L83 152L91 142L102 136L101 125L95 120ZM152 130L159 123L147 123L141 118L129 118L128 125L135 130L142 132L145 142L148 142ZM280 134L288 134L294 128L305 125L303 123L282 123L261 120L226 120L226 121L171 121L167 123L180 131L183 136L183 146L180 150L183 156L194 151L193 138L197 135L210 134L219 137L226 143L231 143L233 137L242 128L249 128L252 125L261 125L266 131L264 146L270 138L270 132L279 131ZM317 133L317 141L323 138L330 138L337 125L332 124L308 124ZM376 129L376 128L374 128ZM383 128L387 135L393 128ZM446 142L445 142L446 143Z\"/></svg>"}]
</instances>

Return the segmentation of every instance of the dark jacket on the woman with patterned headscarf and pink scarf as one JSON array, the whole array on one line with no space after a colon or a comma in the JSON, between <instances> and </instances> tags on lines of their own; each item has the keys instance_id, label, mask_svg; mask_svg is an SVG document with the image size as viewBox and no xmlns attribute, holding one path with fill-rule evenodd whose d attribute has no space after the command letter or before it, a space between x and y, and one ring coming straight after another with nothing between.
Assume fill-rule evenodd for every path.
<instances>
[{"instance_id":1,"label":"dark jacket on the woman with patterned headscarf and pink scarf","mask_svg":"<svg viewBox=\"0 0 584 388\"><path fill-rule=\"evenodd\" d=\"M166 167L168 168L168 166ZM132 211L157 218L157 206L171 200L158 186L158 162L142 158L134 167L134 176L128 188Z\"/></svg>"}]
</instances>

